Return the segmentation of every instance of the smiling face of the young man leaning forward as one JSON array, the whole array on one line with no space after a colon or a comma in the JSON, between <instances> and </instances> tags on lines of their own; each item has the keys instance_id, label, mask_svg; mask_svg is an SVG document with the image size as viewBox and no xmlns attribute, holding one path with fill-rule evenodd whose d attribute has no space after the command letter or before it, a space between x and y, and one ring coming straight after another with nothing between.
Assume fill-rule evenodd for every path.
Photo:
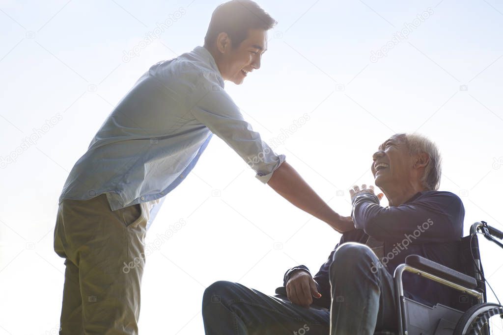
<instances>
[{"instance_id":1,"label":"smiling face of the young man leaning forward","mask_svg":"<svg viewBox=\"0 0 503 335\"><path fill-rule=\"evenodd\" d=\"M219 36L217 43L220 51L217 65L223 79L239 85L251 71L260 68L262 54L267 50L267 31L248 30L247 38L236 48L226 34Z\"/></svg>"}]
</instances>

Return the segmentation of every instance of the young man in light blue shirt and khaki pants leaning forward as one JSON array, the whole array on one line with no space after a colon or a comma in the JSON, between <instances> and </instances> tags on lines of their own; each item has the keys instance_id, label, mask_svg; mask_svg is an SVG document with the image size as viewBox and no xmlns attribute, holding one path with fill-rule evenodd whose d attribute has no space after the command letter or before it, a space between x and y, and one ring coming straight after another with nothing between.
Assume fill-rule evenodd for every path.
<instances>
[{"instance_id":1,"label":"young man in light blue shirt and khaki pants leaning forward","mask_svg":"<svg viewBox=\"0 0 503 335\"><path fill-rule=\"evenodd\" d=\"M151 66L76 162L54 231L66 265L61 334L138 332L146 230L212 134L291 203L339 232L352 229L350 217L334 212L262 142L224 90L224 80L241 84L260 68L275 23L249 0L219 6L204 47Z\"/></svg>"}]
</instances>

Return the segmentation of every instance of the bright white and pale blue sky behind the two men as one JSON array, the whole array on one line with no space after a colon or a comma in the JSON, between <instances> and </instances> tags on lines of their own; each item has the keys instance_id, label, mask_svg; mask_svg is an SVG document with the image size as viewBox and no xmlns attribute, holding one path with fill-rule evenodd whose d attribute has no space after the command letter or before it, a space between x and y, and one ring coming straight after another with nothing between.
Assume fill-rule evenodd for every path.
<instances>
[{"instance_id":1,"label":"bright white and pale blue sky behind the two men","mask_svg":"<svg viewBox=\"0 0 503 335\"><path fill-rule=\"evenodd\" d=\"M151 64L203 43L219 3L0 2L0 335L56 333L64 265L52 242L68 172ZM442 151L441 189L461 196L464 234L477 220L503 229L501 3L259 3L279 24L262 68L226 89L271 145L309 115L274 147L332 208L349 215L347 190L372 183L377 146L395 132L417 131ZM414 21L424 12L424 22ZM123 58L170 18L153 43ZM408 38L390 42L403 29ZM388 42L387 56L371 59ZM30 136L36 144L5 163ZM305 264L315 273L340 238L256 180L216 137L166 196L147 243L180 219L187 224L146 261L143 334L203 333L201 298L211 283L236 281L273 294L288 268ZM482 245L486 277L503 298L503 251Z\"/></svg>"}]
</instances>

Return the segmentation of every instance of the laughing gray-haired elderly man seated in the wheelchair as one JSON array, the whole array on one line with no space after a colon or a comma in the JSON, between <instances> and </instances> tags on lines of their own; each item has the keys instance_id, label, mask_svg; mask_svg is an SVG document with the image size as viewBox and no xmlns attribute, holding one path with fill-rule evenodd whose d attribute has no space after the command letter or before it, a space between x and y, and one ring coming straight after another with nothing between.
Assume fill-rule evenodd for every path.
<instances>
[{"instance_id":1,"label":"laughing gray-haired elderly man seated in the wheelchair","mask_svg":"<svg viewBox=\"0 0 503 335\"><path fill-rule=\"evenodd\" d=\"M318 273L288 270L275 297L219 281L203 297L206 334L364 335L396 329L393 271L416 254L458 268L464 207L453 193L438 191L440 154L427 138L396 134L372 156L372 173L389 201L372 186L350 191L355 230L343 234ZM405 273L406 296L450 305L453 292Z\"/></svg>"}]
</instances>

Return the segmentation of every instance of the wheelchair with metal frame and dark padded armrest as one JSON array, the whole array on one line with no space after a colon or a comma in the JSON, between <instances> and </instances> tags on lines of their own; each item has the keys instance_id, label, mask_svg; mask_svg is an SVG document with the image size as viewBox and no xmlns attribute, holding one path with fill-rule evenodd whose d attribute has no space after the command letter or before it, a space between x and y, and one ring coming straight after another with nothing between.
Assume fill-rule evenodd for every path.
<instances>
[{"instance_id":1,"label":"wheelchair with metal frame and dark padded armrest","mask_svg":"<svg viewBox=\"0 0 503 335\"><path fill-rule=\"evenodd\" d=\"M503 306L486 300L486 280L477 234L482 234L487 240L503 248L503 244L495 239L503 240L502 232L488 226L485 221L475 222L470 227L470 235L461 239L459 251L462 268L459 270L462 272L418 255L407 256L405 263L398 265L393 274L398 306L398 332L376 330L374 335L503 334ZM454 306L440 303L429 306L409 299L403 290L402 275L405 271L450 287L462 295ZM285 288L278 288L276 294L278 297L286 296ZM499 327L496 322L501 322ZM496 327L493 330L499 332L491 331L493 324Z\"/></svg>"}]
</instances>

